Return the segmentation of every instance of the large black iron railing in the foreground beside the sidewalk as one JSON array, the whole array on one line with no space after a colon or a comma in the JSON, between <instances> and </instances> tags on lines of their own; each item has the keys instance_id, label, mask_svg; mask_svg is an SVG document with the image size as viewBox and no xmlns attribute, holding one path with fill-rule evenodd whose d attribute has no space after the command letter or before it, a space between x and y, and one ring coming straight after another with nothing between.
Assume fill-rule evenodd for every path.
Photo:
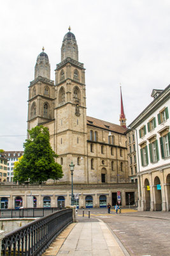
<instances>
[{"instance_id":1,"label":"large black iron railing in the foreground beside the sidewalk","mask_svg":"<svg viewBox=\"0 0 170 256\"><path fill-rule=\"evenodd\" d=\"M73 222L73 210L64 209L32 221L4 236L1 256L40 256L64 228Z\"/></svg>"}]
</instances>

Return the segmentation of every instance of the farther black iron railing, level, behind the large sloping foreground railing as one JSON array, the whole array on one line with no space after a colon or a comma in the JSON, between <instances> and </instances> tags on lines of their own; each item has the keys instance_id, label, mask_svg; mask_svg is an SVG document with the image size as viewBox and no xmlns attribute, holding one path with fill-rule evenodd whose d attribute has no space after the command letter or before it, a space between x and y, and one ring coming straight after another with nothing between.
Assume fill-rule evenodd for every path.
<instances>
[{"instance_id":1,"label":"farther black iron railing, level, behind the large sloping foreground railing","mask_svg":"<svg viewBox=\"0 0 170 256\"><path fill-rule=\"evenodd\" d=\"M60 208L22 208L22 209L1 209L1 218L38 218L47 216L50 213L59 211Z\"/></svg>"}]
</instances>

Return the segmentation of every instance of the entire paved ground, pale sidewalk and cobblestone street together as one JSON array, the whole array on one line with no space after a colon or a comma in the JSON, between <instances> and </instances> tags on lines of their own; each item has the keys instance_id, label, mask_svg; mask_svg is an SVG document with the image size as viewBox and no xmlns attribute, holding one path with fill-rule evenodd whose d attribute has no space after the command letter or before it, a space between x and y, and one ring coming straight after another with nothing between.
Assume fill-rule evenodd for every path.
<instances>
[{"instance_id":1,"label":"entire paved ground, pale sidewalk and cobblestone street together","mask_svg":"<svg viewBox=\"0 0 170 256\"><path fill-rule=\"evenodd\" d=\"M122 209L78 209L72 223L43 256L163 256L170 255L170 212Z\"/></svg>"}]
</instances>

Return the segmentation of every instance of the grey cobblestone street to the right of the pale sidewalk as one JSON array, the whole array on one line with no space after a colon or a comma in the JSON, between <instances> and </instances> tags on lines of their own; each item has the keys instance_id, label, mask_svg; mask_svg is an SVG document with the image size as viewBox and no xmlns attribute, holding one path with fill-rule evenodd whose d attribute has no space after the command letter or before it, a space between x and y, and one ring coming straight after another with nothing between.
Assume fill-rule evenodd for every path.
<instances>
[{"instance_id":1,"label":"grey cobblestone street to the right of the pale sidewalk","mask_svg":"<svg viewBox=\"0 0 170 256\"><path fill-rule=\"evenodd\" d=\"M81 213L80 209L80 221ZM88 218L87 209L84 218ZM107 209L90 209L90 218L98 218L107 223L132 256L170 255L170 212L136 212L124 209L122 214L116 214L113 210L108 214Z\"/></svg>"}]
</instances>

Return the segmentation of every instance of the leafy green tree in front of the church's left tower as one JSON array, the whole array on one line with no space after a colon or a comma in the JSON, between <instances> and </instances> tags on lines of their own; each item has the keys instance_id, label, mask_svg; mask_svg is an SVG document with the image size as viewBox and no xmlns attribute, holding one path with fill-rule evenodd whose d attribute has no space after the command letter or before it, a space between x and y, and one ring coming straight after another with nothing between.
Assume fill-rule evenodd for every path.
<instances>
[{"instance_id":1,"label":"leafy green tree in front of the church's left tower","mask_svg":"<svg viewBox=\"0 0 170 256\"><path fill-rule=\"evenodd\" d=\"M55 163L57 154L50 146L50 134L46 127L36 126L28 131L30 139L25 140L24 155L14 167L15 181L41 183L48 179L62 178L62 166Z\"/></svg>"}]
</instances>

